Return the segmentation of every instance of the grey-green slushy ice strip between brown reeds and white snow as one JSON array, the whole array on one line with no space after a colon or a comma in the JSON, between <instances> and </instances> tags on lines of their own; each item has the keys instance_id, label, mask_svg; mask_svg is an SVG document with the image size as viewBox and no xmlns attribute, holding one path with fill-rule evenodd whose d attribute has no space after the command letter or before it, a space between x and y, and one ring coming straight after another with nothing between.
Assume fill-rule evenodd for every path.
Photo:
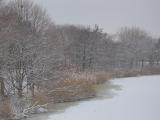
<instances>
[{"instance_id":1,"label":"grey-green slushy ice strip between brown reeds and white snow","mask_svg":"<svg viewBox=\"0 0 160 120\"><path fill-rule=\"evenodd\" d=\"M62 103L51 103L48 107L48 112L42 114L32 114L30 117L24 120L46 120L48 116L52 114L63 114L66 110L71 107L76 107L80 103L83 102L92 102L94 100L102 100L102 99L112 99L116 94L114 91L121 90L121 86L117 84L112 84L113 81L106 81L104 84L98 84L95 87L96 96L93 98L85 98L78 101L73 102L62 102Z\"/></svg>"}]
</instances>

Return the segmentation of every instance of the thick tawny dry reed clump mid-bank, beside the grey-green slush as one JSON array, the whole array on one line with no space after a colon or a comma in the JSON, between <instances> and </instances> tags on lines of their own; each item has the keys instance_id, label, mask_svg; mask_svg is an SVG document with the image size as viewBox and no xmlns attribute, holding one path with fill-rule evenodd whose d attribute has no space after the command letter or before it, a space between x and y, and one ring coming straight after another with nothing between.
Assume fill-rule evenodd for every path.
<instances>
[{"instance_id":1,"label":"thick tawny dry reed clump mid-bank, beside the grey-green slush","mask_svg":"<svg viewBox=\"0 0 160 120\"><path fill-rule=\"evenodd\" d=\"M99 73L72 73L64 80L54 81L50 96L54 102L76 101L96 96L95 85L111 79L110 74Z\"/></svg>"}]
</instances>

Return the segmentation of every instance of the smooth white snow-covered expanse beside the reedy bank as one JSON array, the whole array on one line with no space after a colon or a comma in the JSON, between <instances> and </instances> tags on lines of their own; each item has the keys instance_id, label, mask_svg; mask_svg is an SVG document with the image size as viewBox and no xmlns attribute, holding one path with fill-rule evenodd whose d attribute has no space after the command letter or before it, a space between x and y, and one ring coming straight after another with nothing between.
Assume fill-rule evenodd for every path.
<instances>
[{"instance_id":1,"label":"smooth white snow-covered expanse beside the reedy bank","mask_svg":"<svg viewBox=\"0 0 160 120\"><path fill-rule=\"evenodd\" d=\"M116 79L122 90L108 99L83 101L38 120L160 120L160 76ZM36 119L33 119L36 120Z\"/></svg>"}]
</instances>

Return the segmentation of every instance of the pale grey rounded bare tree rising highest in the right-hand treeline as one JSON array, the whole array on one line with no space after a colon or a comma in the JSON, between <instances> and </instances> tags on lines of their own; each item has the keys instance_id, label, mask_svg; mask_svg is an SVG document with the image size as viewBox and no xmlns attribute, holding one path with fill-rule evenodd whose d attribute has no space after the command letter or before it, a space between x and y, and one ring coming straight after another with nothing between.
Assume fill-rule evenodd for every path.
<instances>
[{"instance_id":1,"label":"pale grey rounded bare tree rising highest in the right-hand treeline","mask_svg":"<svg viewBox=\"0 0 160 120\"><path fill-rule=\"evenodd\" d=\"M124 61L129 63L130 68L143 67L148 59L149 51L153 47L152 37L139 28L122 28L118 34L121 41Z\"/></svg>"}]
</instances>

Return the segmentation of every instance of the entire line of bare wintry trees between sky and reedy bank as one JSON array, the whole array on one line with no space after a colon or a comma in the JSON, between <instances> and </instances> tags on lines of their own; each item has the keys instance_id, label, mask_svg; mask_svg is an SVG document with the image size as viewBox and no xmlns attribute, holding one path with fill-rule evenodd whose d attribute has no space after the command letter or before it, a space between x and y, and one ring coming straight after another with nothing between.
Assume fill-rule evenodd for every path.
<instances>
[{"instance_id":1,"label":"entire line of bare wintry trees between sky and reedy bank","mask_svg":"<svg viewBox=\"0 0 160 120\"><path fill-rule=\"evenodd\" d=\"M1 95L34 95L34 87L70 72L143 68L160 63L160 39L136 27L109 35L98 25L55 25L27 0L0 2Z\"/></svg>"}]
</instances>

